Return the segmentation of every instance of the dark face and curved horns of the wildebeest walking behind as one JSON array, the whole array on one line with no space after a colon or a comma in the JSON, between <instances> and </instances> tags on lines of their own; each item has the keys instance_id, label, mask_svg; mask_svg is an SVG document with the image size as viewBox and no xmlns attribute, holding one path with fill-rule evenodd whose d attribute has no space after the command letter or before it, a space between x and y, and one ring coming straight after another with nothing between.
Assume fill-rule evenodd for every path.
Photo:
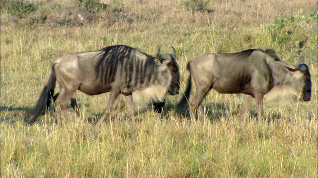
<instances>
[{"instance_id":1,"label":"dark face and curved horns of the wildebeest walking behind","mask_svg":"<svg viewBox=\"0 0 318 178\"><path fill-rule=\"evenodd\" d=\"M172 47L172 46L171 46ZM171 73L172 80L170 84L170 88L168 89L169 94L175 95L179 93L180 85L180 73L179 73L179 66L176 62L176 54L175 49L172 47L173 53L172 54L161 54L160 55L160 47L157 51L157 58L161 60L161 62L166 62L167 67Z\"/></svg>"}]
</instances>

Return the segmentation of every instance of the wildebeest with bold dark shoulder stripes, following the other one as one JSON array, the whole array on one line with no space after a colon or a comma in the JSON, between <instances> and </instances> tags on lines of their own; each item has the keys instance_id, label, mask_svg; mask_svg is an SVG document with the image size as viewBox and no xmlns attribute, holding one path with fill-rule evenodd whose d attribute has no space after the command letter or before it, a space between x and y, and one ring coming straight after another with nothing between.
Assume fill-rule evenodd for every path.
<instances>
[{"instance_id":1,"label":"wildebeest with bold dark shoulder stripes, following the other one","mask_svg":"<svg viewBox=\"0 0 318 178\"><path fill-rule=\"evenodd\" d=\"M105 112L98 123L114 114L113 105L120 94L125 95L134 124L133 92L145 92L155 102L163 102L167 93L179 93L179 68L175 54L160 55L160 47L156 57L126 45L69 53L52 64L48 82L31 112L32 122L50 105L56 80L61 87L54 101L58 124L62 123L61 111L67 109L70 99L72 107L76 107L76 90L88 95L111 92Z\"/></svg>"}]
</instances>

